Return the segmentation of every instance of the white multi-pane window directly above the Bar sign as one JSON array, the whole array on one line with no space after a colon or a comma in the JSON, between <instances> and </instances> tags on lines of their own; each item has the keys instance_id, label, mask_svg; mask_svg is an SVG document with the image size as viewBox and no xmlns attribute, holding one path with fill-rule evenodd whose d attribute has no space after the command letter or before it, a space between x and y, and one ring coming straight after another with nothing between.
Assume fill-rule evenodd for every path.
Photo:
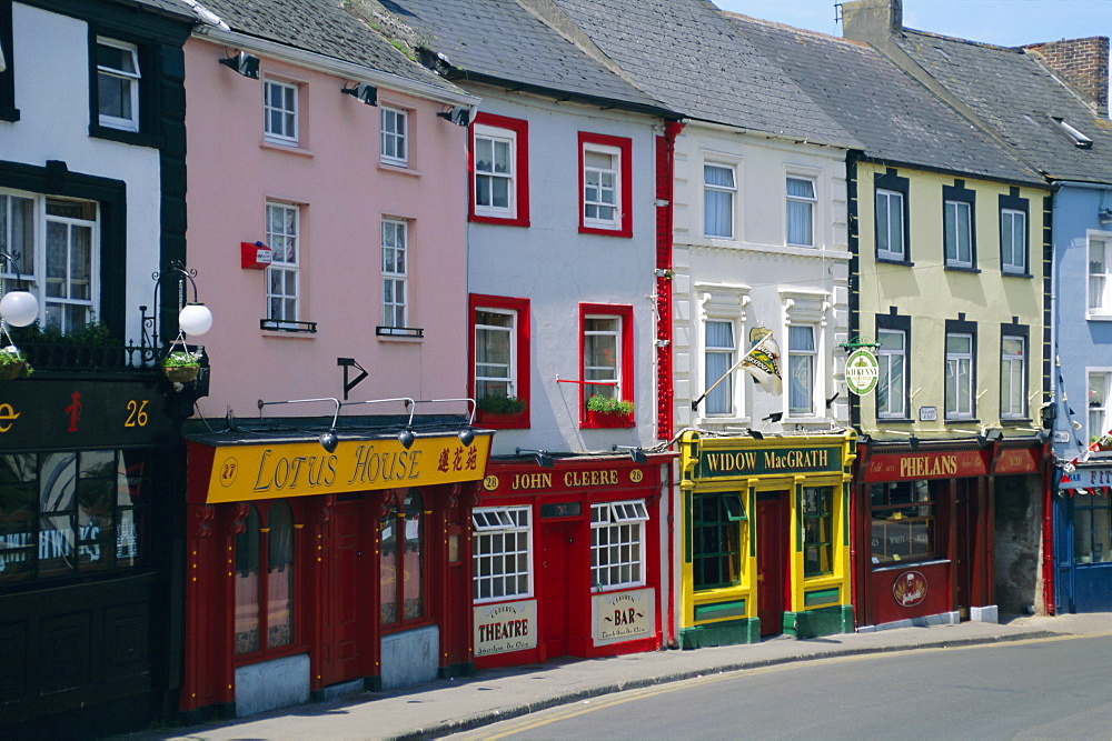
<instances>
[{"instance_id":1,"label":"white multi-pane window directly above the Bar sign","mask_svg":"<svg viewBox=\"0 0 1112 741\"><path fill-rule=\"evenodd\" d=\"M645 583L644 500L590 505L590 585L623 589Z\"/></svg>"}]
</instances>

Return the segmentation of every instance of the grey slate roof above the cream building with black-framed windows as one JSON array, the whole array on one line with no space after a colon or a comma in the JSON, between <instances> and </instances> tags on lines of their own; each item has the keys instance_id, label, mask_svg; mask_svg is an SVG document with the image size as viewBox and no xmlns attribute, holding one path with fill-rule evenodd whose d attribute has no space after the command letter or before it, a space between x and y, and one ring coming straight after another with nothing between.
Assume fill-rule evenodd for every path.
<instances>
[{"instance_id":1,"label":"grey slate roof above the cream building with black-framed windows","mask_svg":"<svg viewBox=\"0 0 1112 741\"><path fill-rule=\"evenodd\" d=\"M724 17L850 131L871 159L1044 184L871 47L745 16Z\"/></svg>"}]
</instances>

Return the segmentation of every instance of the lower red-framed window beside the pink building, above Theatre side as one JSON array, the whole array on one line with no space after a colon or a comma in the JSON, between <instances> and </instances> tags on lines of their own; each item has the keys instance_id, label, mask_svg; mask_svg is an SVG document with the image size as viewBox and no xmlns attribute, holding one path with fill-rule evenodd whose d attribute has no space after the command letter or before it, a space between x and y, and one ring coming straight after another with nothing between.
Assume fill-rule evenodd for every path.
<instances>
[{"instance_id":1,"label":"lower red-framed window beside the pink building, above Theatre side","mask_svg":"<svg viewBox=\"0 0 1112 741\"><path fill-rule=\"evenodd\" d=\"M473 293L468 356L476 420L495 429L529 427L529 300Z\"/></svg>"}]
</instances>

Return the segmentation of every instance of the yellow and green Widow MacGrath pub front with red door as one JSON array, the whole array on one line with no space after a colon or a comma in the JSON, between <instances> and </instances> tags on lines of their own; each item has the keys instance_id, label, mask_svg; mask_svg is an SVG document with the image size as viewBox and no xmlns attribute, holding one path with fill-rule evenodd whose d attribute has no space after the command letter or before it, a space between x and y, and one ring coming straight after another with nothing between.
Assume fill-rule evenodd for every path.
<instances>
[{"instance_id":1,"label":"yellow and green Widow MacGrath pub front with red door","mask_svg":"<svg viewBox=\"0 0 1112 741\"><path fill-rule=\"evenodd\" d=\"M853 630L855 437L681 437L681 648Z\"/></svg>"}]
</instances>

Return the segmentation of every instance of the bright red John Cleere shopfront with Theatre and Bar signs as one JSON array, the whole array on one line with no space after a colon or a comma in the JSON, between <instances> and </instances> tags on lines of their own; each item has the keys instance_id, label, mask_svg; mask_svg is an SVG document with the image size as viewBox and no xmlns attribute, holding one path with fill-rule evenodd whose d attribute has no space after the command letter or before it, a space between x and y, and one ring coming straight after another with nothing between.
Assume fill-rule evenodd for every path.
<instances>
[{"instance_id":1,"label":"bright red John Cleere shopfront with Theatre and Bar signs","mask_svg":"<svg viewBox=\"0 0 1112 741\"><path fill-rule=\"evenodd\" d=\"M477 668L661 648L671 460L490 461L471 513Z\"/></svg>"}]
</instances>

